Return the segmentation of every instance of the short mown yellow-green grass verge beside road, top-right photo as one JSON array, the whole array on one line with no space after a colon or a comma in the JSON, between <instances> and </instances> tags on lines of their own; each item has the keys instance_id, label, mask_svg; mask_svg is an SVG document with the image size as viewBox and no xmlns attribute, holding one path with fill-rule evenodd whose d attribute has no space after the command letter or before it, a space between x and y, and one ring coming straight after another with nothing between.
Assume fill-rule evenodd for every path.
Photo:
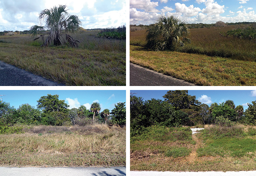
<instances>
[{"instance_id":1,"label":"short mown yellow-green grass verge beside road, top-right photo","mask_svg":"<svg viewBox=\"0 0 256 176\"><path fill-rule=\"evenodd\" d=\"M130 45L130 62L202 86L255 86L256 62Z\"/></svg>"}]
</instances>

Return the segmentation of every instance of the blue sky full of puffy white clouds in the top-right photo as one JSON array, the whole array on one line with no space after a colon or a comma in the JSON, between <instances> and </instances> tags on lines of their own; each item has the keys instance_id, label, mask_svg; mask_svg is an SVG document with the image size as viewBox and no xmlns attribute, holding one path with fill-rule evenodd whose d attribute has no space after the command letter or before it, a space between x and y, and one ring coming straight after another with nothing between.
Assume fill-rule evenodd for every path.
<instances>
[{"instance_id":1,"label":"blue sky full of puffy white clouds in the top-right photo","mask_svg":"<svg viewBox=\"0 0 256 176\"><path fill-rule=\"evenodd\" d=\"M256 0L130 0L130 24L153 24L159 16L187 23L256 22Z\"/></svg>"}]
</instances>

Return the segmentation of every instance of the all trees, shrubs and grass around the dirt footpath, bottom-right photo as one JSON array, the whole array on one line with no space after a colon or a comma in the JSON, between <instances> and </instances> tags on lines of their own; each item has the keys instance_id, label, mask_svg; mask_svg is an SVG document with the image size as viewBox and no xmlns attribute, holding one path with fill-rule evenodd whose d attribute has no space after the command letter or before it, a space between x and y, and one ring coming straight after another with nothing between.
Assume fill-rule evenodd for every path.
<instances>
[{"instance_id":1,"label":"all trees, shrubs and grass around the dirt footpath, bottom-right photo","mask_svg":"<svg viewBox=\"0 0 256 176\"><path fill-rule=\"evenodd\" d=\"M256 102L201 104L186 90L165 100L130 97L131 170L255 170ZM184 127L183 127L184 126ZM204 128L192 134L190 128Z\"/></svg>"}]
</instances>

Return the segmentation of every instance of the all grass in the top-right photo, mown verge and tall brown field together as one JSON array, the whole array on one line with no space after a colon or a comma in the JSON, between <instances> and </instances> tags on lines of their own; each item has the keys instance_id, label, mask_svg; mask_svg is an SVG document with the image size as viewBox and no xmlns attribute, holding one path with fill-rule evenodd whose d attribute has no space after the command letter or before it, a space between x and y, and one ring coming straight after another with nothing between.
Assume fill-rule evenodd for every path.
<instances>
[{"instance_id":1,"label":"all grass in the top-right photo, mown verge and tall brown field together","mask_svg":"<svg viewBox=\"0 0 256 176\"><path fill-rule=\"evenodd\" d=\"M179 52L145 50L146 30L130 32L130 62L202 86L254 86L256 42L220 34L236 28L191 29Z\"/></svg>"}]
</instances>

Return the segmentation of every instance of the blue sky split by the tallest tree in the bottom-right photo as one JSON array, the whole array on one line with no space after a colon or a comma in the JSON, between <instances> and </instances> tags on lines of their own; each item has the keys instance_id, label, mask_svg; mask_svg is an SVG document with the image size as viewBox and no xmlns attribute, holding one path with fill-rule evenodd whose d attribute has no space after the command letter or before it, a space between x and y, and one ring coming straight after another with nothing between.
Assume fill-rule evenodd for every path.
<instances>
[{"instance_id":1,"label":"blue sky split by the tallest tree in the bottom-right photo","mask_svg":"<svg viewBox=\"0 0 256 176\"><path fill-rule=\"evenodd\" d=\"M151 100L152 98L164 100L163 96L168 90L131 90L131 93L143 100ZM244 106L244 110L248 108L247 103L252 104L256 100L256 90L189 90L189 95L196 96L201 103L210 106L212 103L223 103L226 100L233 100L236 106Z\"/></svg>"}]
</instances>

